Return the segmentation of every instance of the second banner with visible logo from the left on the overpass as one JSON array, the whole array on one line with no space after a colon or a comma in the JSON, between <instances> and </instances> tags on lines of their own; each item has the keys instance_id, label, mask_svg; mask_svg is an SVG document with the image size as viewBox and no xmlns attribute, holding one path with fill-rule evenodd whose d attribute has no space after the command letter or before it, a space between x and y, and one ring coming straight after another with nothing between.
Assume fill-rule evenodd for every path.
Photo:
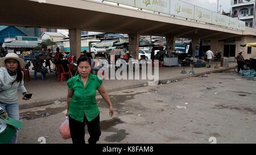
<instances>
[{"instance_id":1,"label":"second banner with visible logo from the left on the overpass","mask_svg":"<svg viewBox=\"0 0 256 155\"><path fill-rule=\"evenodd\" d=\"M171 0L170 5L171 15L194 19L194 5L178 0Z\"/></svg>"}]
</instances>

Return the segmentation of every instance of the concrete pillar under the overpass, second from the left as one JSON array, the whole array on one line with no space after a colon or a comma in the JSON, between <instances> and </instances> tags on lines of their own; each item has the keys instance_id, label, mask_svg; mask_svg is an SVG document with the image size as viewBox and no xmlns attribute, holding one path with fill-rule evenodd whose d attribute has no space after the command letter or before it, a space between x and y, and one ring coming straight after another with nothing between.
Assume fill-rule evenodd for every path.
<instances>
[{"instance_id":1,"label":"concrete pillar under the overpass, second from the left","mask_svg":"<svg viewBox=\"0 0 256 155\"><path fill-rule=\"evenodd\" d=\"M139 34L129 33L129 53L134 59L139 58Z\"/></svg>"}]
</instances>

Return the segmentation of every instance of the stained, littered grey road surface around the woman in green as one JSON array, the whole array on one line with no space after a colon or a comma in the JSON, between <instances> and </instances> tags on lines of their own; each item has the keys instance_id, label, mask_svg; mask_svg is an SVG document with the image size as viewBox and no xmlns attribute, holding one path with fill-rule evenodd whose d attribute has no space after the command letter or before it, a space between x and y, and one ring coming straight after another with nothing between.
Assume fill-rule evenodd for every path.
<instances>
[{"instance_id":1,"label":"stained, littered grey road surface around the woman in green","mask_svg":"<svg viewBox=\"0 0 256 155\"><path fill-rule=\"evenodd\" d=\"M106 103L97 97L99 143L210 143L210 137L217 143L256 143L255 87L255 81L226 72L116 91L110 93L114 118L109 118ZM58 131L65 106L21 110L25 129L19 132L18 143L39 143L39 137L46 137L46 143L72 143ZM86 131L85 139L88 136Z\"/></svg>"}]
</instances>

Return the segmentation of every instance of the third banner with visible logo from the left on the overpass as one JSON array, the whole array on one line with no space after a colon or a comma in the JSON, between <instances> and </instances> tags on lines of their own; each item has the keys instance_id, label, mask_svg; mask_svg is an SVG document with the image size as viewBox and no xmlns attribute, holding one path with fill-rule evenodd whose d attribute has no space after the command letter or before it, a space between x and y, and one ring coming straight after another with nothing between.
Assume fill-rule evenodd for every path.
<instances>
[{"instance_id":1,"label":"third banner with visible logo from the left on the overpass","mask_svg":"<svg viewBox=\"0 0 256 155\"><path fill-rule=\"evenodd\" d=\"M212 23L212 11L195 6L195 20L200 22Z\"/></svg>"}]
</instances>

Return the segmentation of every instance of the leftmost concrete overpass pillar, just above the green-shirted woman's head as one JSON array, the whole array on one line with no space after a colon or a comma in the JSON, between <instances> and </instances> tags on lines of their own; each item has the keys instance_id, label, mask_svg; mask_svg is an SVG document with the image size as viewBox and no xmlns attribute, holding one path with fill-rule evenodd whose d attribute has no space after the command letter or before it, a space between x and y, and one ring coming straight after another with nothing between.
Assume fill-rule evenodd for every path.
<instances>
[{"instance_id":1,"label":"leftmost concrete overpass pillar, just above the green-shirted woman's head","mask_svg":"<svg viewBox=\"0 0 256 155\"><path fill-rule=\"evenodd\" d=\"M81 30L69 29L70 50L77 58L81 55Z\"/></svg>"}]
</instances>

